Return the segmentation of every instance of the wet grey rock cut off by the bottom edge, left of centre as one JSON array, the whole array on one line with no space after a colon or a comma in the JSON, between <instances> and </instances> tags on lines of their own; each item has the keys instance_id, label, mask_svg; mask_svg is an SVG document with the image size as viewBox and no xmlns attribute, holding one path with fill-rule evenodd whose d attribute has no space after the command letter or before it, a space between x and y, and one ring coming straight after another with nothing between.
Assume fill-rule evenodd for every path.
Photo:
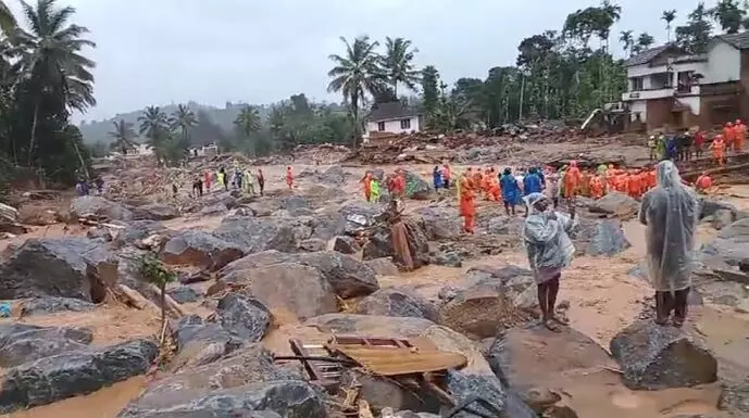
<instances>
[{"instance_id":1,"label":"wet grey rock cut off by the bottom edge, left of centre","mask_svg":"<svg viewBox=\"0 0 749 418\"><path fill-rule=\"evenodd\" d=\"M164 398L140 400L118 418L327 418L325 404L314 387L301 380L274 380L185 396L171 389ZM148 394L148 392L146 393ZM145 395L143 395L145 396Z\"/></svg>"}]
</instances>

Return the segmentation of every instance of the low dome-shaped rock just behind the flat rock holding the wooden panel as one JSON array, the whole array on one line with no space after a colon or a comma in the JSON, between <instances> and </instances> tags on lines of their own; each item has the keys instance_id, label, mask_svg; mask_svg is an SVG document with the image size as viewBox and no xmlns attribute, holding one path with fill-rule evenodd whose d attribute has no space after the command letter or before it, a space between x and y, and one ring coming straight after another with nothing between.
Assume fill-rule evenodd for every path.
<instances>
[{"instance_id":1,"label":"low dome-shaped rock just behind the flat rock holding the wooden panel","mask_svg":"<svg viewBox=\"0 0 749 418\"><path fill-rule=\"evenodd\" d=\"M425 318L439 321L437 308L409 289L380 289L357 304L357 314Z\"/></svg>"}]
</instances>

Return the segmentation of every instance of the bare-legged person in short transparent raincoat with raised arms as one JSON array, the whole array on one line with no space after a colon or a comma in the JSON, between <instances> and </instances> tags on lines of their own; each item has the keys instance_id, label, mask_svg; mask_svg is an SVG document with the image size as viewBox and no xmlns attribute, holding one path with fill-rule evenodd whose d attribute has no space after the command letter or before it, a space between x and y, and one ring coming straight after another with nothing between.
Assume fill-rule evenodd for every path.
<instances>
[{"instance_id":1,"label":"bare-legged person in short transparent raincoat with raised arms","mask_svg":"<svg viewBox=\"0 0 749 418\"><path fill-rule=\"evenodd\" d=\"M541 318L548 329L558 331L557 324L567 325L566 318L554 314L554 307L562 269L572 263L575 253L567 235L575 226L574 214L567 216L548 211L552 203L542 193L530 193L524 199L529 214L525 218L523 240L528 253L528 264L538 286Z\"/></svg>"}]
</instances>

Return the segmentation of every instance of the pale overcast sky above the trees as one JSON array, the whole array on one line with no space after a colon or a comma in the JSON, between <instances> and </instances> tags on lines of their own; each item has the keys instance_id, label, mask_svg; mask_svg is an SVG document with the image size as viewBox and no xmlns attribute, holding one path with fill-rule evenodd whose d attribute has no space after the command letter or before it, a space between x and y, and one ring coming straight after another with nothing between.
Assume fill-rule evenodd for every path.
<instances>
[{"instance_id":1,"label":"pale overcast sky above the trees","mask_svg":"<svg viewBox=\"0 0 749 418\"><path fill-rule=\"evenodd\" d=\"M34 2L35 0L29 0ZM20 11L17 0L7 0ZM622 20L612 30L649 31L659 41L663 10L677 23L697 1L614 0ZM510 65L517 43L560 29L572 11L596 0L59 0L77 9L98 47L99 104L86 119L194 100L271 103L297 92L316 100L329 94L328 54L342 51L340 36L411 39L416 63L434 64L448 83L486 76ZM708 1L712 5L714 0ZM20 14L16 13L21 17ZM613 45L613 43L612 43ZM80 116L76 116L80 119Z\"/></svg>"}]
</instances>

